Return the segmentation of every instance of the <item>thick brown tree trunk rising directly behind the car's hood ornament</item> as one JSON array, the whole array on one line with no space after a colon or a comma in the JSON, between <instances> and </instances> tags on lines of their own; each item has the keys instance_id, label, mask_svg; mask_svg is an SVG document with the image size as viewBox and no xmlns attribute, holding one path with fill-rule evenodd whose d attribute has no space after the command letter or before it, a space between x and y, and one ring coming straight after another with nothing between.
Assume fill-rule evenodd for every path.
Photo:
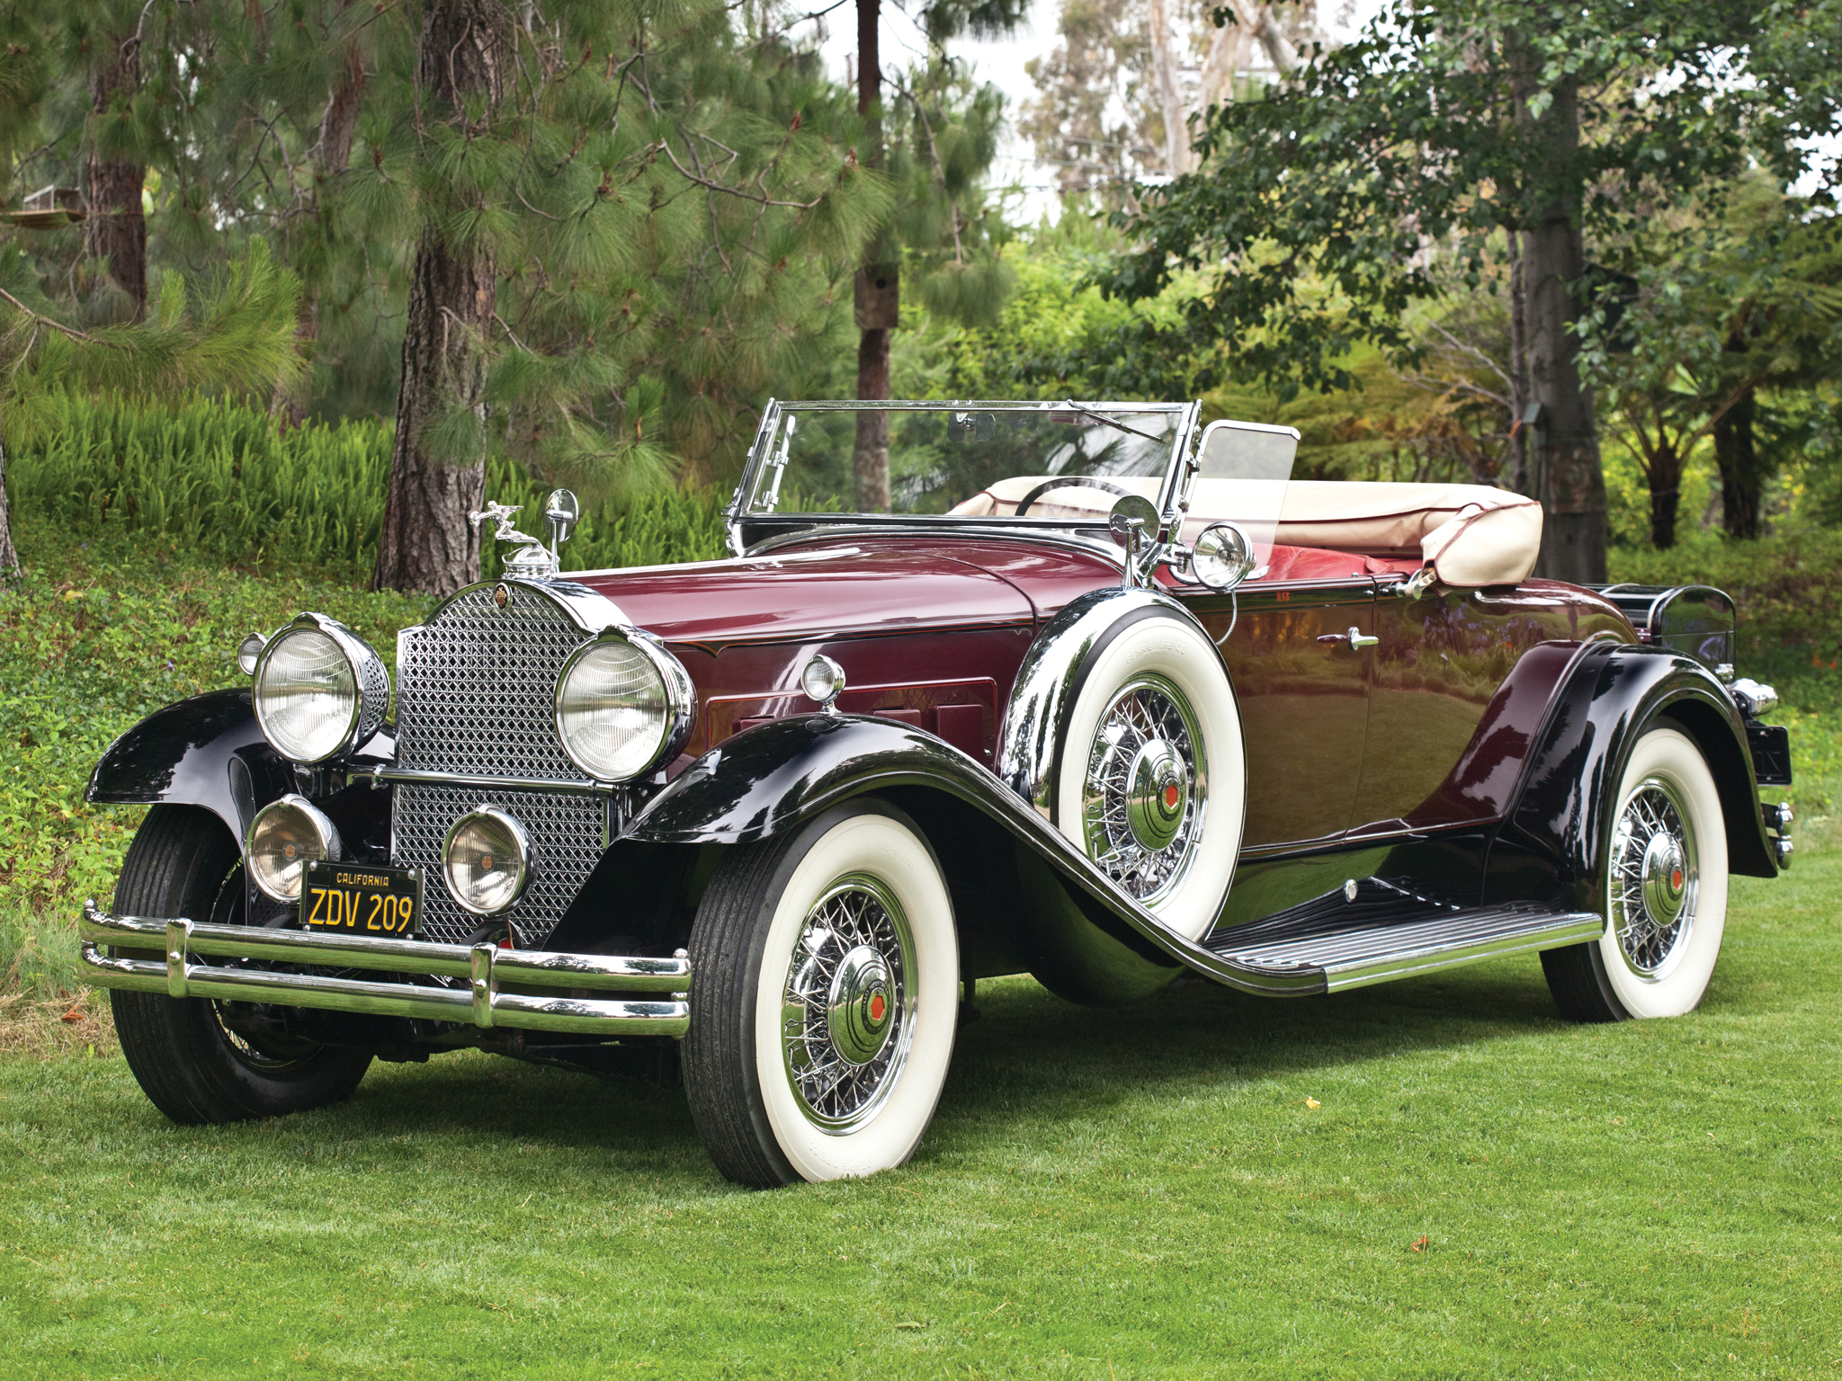
<instances>
[{"instance_id":1,"label":"thick brown tree trunk rising directly behind the car's hood ornament","mask_svg":"<svg viewBox=\"0 0 1842 1381\"><path fill-rule=\"evenodd\" d=\"M510 17L497 0L429 0L422 20L416 85L424 120L464 120L460 101L505 92ZM490 247L451 245L426 208L409 276L403 381L396 396L391 493L378 534L372 589L451 595L479 578L479 532L468 514L486 486L486 355L499 276ZM438 453L431 433L472 412L473 440ZM448 427L448 436L464 429Z\"/></svg>"}]
</instances>

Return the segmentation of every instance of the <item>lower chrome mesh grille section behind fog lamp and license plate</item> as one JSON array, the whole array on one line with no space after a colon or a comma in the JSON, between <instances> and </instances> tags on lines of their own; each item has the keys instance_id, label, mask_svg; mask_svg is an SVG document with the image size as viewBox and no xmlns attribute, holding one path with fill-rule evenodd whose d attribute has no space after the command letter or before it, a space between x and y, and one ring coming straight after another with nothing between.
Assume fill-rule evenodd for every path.
<instances>
[{"instance_id":1,"label":"lower chrome mesh grille section behind fog lamp and license plate","mask_svg":"<svg viewBox=\"0 0 1842 1381\"><path fill-rule=\"evenodd\" d=\"M483 792L479 786L396 784L392 862L420 867L422 937L459 945L481 926L481 917L460 910L442 884L442 840L448 827L468 810L492 799L514 816L530 836L530 886L518 906L495 921L510 921L519 948L540 946L562 921L564 910L600 862L606 801L597 795L545 792Z\"/></svg>"}]
</instances>

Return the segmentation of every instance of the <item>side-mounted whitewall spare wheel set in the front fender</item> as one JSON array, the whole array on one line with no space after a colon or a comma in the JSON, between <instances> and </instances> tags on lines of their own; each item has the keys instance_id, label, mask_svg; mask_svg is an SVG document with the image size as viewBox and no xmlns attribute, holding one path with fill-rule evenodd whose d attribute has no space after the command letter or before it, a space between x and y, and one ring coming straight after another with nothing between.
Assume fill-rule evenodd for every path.
<instances>
[{"instance_id":1,"label":"side-mounted whitewall spare wheel set in the front fender","mask_svg":"<svg viewBox=\"0 0 1842 1381\"><path fill-rule=\"evenodd\" d=\"M1151 613L1090 654L1055 775L1055 825L1164 924L1199 939L1234 876L1247 757L1229 674Z\"/></svg>"}]
</instances>

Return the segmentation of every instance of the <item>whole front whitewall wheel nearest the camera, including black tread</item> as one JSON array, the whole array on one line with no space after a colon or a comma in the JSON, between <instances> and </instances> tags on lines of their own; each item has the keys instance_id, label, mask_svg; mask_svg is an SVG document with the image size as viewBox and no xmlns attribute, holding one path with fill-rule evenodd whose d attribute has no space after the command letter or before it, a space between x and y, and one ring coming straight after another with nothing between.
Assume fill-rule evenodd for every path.
<instances>
[{"instance_id":1,"label":"whole front whitewall wheel nearest the camera, including black tread","mask_svg":"<svg viewBox=\"0 0 1842 1381\"><path fill-rule=\"evenodd\" d=\"M880 801L729 851L691 930L685 1096L728 1178L875 1175L914 1155L958 1022L939 862Z\"/></svg>"}]
</instances>

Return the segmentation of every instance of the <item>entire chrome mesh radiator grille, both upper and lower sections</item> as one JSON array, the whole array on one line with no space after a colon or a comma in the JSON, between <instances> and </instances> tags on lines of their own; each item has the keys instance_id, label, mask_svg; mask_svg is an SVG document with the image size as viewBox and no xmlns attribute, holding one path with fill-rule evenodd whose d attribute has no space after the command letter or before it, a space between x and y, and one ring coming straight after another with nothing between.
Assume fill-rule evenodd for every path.
<instances>
[{"instance_id":1,"label":"entire chrome mesh radiator grille, both upper and lower sections","mask_svg":"<svg viewBox=\"0 0 1842 1381\"><path fill-rule=\"evenodd\" d=\"M564 659L588 637L554 602L507 584L470 589L398 641L396 766L477 777L580 781L556 738L553 698ZM600 860L606 799L554 792L398 783L392 862L424 871L427 939L457 943L481 926L442 884L442 840L483 801L530 836L532 882L505 917L521 948L542 945Z\"/></svg>"}]
</instances>

